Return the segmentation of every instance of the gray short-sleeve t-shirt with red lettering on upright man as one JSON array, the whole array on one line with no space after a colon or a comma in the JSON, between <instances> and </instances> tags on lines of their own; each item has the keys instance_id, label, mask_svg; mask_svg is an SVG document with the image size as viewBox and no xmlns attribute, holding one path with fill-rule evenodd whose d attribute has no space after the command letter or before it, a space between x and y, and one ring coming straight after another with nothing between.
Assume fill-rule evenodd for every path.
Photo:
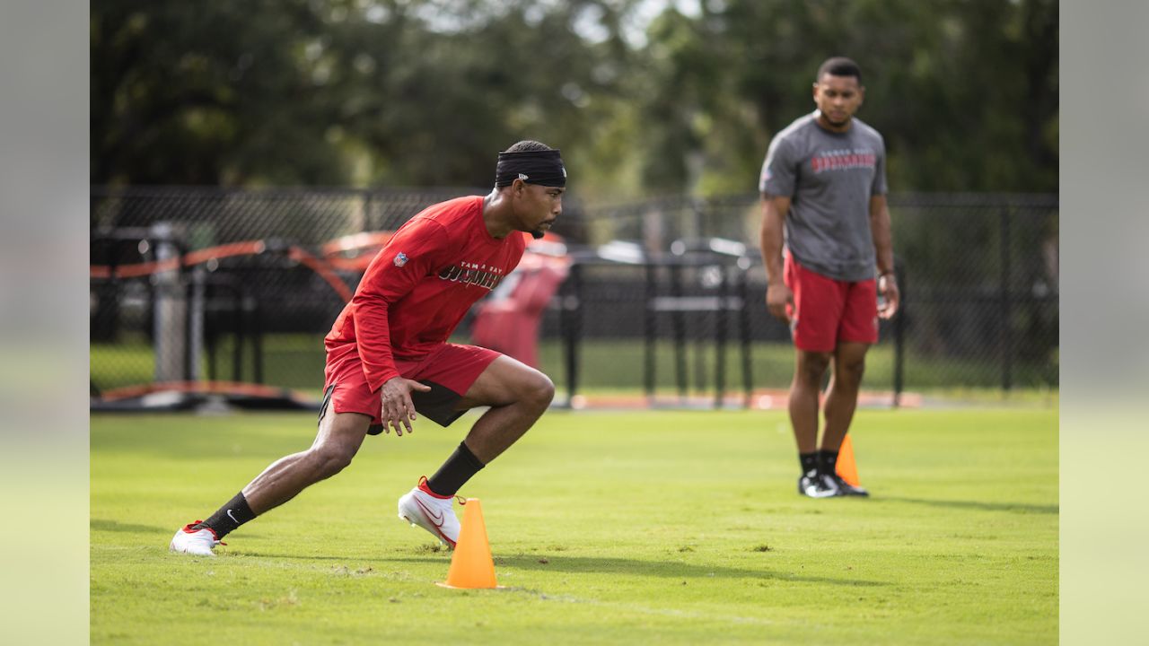
<instances>
[{"instance_id":1,"label":"gray short-sleeve t-shirt with red lettering on upright man","mask_svg":"<svg viewBox=\"0 0 1149 646\"><path fill-rule=\"evenodd\" d=\"M870 197L886 193L886 145L857 118L831 132L816 116L774 136L758 190L791 198L786 248L799 264L838 280L873 278Z\"/></svg>"}]
</instances>

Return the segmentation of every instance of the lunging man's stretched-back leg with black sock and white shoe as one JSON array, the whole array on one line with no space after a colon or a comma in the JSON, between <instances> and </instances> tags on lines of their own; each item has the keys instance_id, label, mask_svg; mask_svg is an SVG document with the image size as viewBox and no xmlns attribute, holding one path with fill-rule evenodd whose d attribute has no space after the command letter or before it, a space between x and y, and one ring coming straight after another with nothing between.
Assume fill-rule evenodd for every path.
<instances>
[{"instance_id":1,"label":"lunging man's stretched-back leg with black sock and white shoe","mask_svg":"<svg viewBox=\"0 0 1149 646\"><path fill-rule=\"evenodd\" d=\"M319 422L311 447L271 463L207 521L176 532L171 548L211 555L211 547L239 525L294 498L308 486L341 471L363 444L371 418L358 413L336 413L332 403Z\"/></svg>"}]
</instances>

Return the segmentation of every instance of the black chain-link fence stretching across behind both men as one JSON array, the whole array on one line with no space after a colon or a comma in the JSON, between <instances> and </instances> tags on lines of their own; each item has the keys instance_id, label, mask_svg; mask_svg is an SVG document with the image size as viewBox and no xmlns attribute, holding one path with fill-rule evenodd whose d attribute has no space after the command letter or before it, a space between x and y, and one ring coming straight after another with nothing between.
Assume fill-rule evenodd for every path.
<instances>
[{"instance_id":1,"label":"black chain-link fence stretching across behind both men","mask_svg":"<svg viewBox=\"0 0 1149 646\"><path fill-rule=\"evenodd\" d=\"M485 192L93 189L93 394L318 391L322 337L379 247L371 233ZM904 308L882 323L867 387L1056 387L1056 197L895 194L890 210ZM542 317L542 369L569 392L785 387L793 351L763 305L759 218L753 194L568 199L556 232L576 262Z\"/></svg>"}]
</instances>

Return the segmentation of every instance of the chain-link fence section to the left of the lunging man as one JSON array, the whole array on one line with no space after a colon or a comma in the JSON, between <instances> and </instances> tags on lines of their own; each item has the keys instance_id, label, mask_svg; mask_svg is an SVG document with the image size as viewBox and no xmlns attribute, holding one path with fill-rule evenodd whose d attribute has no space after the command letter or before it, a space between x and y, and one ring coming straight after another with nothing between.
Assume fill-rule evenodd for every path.
<instances>
[{"instance_id":1,"label":"chain-link fence section to the left of the lunging man","mask_svg":"<svg viewBox=\"0 0 1149 646\"><path fill-rule=\"evenodd\" d=\"M354 234L483 192L94 189L93 392L198 380L322 387L322 337L361 276L354 261L373 251Z\"/></svg>"}]
</instances>

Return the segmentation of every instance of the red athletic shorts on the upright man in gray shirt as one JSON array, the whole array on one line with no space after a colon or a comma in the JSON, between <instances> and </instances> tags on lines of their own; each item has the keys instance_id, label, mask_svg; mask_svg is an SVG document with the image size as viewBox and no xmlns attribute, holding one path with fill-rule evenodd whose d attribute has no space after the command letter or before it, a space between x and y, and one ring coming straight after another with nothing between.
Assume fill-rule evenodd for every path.
<instances>
[{"instance_id":1,"label":"red athletic shorts on the upright man in gray shirt","mask_svg":"<svg viewBox=\"0 0 1149 646\"><path fill-rule=\"evenodd\" d=\"M782 279L794 292L787 308L794 345L807 352L833 352L839 341L878 343L878 284L835 280L810 271L786 254Z\"/></svg>"}]
</instances>

